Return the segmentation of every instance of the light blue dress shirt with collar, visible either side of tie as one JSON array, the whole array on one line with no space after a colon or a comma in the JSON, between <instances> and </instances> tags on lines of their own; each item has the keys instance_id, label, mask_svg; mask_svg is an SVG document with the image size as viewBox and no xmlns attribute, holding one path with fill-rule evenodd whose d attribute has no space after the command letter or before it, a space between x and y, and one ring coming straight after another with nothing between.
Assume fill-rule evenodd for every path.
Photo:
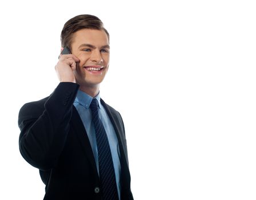
<instances>
[{"instance_id":1,"label":"light blue dress shirt with collar, visible either side of tie","mask_svg":"<svg viewBox=\"0 0 256 200\"><path fill-rule=\"evenodd\" d=\"M98 94L94 98L96 98L97 101L99 102L99 117L100 117L101 122L103 123L105 131L107 133L109 146L111 149L111 154L112 154L112 159L113 159L113 165L114 165L114 169L115 169L117 191L118 191L119 199L120 199L121 165L120 165L120 159L119 159L120 158L119 143L118 143L118 140L116 137L116 131L111 123L111 120L108 117L106 110L104 109L103 105L101 105L101 103L100 103L100 94ZM96 162L96 167L97 167L97 170L99 173L99 161L98 161L96 134L95 134L94 125L92 122L92 111L89 109L92 99L93 98L90 97L90 95L84 93L81 90L78 90L77 97L74 101L74 106L76 107L78 114L80 115L80 118L82 119L82 123L84 123L84 127L85 127L86 133L87 133L89 141L90 141L90 146L92 146L92 151L93 151L94 159Z\"/></svg>"}]
</instances>

